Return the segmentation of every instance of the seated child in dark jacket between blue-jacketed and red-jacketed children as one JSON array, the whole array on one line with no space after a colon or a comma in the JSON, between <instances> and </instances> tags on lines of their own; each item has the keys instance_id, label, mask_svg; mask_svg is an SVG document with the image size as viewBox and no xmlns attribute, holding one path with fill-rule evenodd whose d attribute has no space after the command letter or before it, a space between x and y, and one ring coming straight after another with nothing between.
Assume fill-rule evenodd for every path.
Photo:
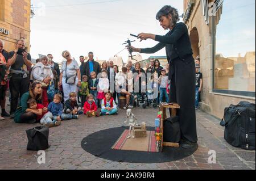
<instances>
[{"instance_id":1,"label":"seated child in dark jacket between blue-jacketed and red-jacketed children","mask_svg":"<svg viewBox=\"0 0 256 181\"><path fill-rule=\"evenodd\" d=\"M63 113L72 115L81 115L82 111L76 101L76 92L71 92L69 94L69 99L65 102L65 107Z\"/></svg>"}]
</instances>

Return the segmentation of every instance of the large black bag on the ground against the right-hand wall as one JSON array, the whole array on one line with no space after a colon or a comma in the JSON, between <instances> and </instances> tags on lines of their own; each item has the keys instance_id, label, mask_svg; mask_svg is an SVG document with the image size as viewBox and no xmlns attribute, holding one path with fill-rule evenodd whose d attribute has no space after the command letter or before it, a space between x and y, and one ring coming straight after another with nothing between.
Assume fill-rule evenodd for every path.
<instances>
[{"instance_id":1,"label":"large black bag on the ground against the right-hand wall","mask_svg":"<svg viewBox=\"0 0 256 181\"><path fill-rule=\"evenodd\" d=\"M230 145L255 150L255 104L230 105L220 124L225 127L224 138Z\"/></svg>"}]
</instances>

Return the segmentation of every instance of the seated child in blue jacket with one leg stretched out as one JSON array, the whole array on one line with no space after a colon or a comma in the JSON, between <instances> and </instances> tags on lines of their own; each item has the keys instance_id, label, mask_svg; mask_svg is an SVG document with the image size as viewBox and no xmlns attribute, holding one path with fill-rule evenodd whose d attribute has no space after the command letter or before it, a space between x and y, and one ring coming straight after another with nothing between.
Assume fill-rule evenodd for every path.
<instances>
[{"instance_id":1,"label":"seated child in blue jacket with one leg stretched out","mask_svg":"<svg viewBox=\"0 0 256 181\"><path fill-rule=\"evenodd\" d=\"M63 104L61 103L62 95L55 94L53 102L49 103L48 111L53 115L53 121L79 119L78 115L63 113Z\"/></svg>"}]
</instances>

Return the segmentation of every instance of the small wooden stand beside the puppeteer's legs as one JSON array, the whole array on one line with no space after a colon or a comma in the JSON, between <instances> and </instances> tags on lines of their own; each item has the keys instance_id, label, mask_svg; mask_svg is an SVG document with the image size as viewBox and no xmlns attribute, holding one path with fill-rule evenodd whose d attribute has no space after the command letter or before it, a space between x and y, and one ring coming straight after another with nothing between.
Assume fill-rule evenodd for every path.
<instances>
[{"instance_id":1,"label":"small wooden stand beside the puppeteer's legs","mask_svg":"<svg viewBox=\"0 0 256 181\"><path fill-rule=\"evenodd\" d=\"M160 133L162 134L162 142L161 142L161 148L160 150L163 151L163 146L169 146L169 147L175 147L179 148L180 144L175 142L163 142L163 121L166 120L166 109L170 109L171 111L171 117L174 117L177 115L177 109L180 109L179 104L177 103L161 103L160 104L160 111L163 112L163 116L160 119Z\"/></svg>"}]
</instances>

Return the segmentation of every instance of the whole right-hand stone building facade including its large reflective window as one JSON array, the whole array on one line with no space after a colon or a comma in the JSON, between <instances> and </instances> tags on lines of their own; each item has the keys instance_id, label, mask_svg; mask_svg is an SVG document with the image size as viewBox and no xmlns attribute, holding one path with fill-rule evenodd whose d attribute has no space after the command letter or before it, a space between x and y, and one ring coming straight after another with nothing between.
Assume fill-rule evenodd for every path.
<instances>
[{"instance_id":1,"label":"whole right-hand stone building facade including its large reflective window","mask_svg":"<svg viewBox=\"0 0 256 181\"><path fill-rule=\"evenodd\" d=\"M255 103L255 29L254 37L248 35L250 27L255 27L255 6L247 1L232 2L184 0L183 21L193 57L200 56L203 73L201 110L218 118L230 104ZM239 18L249 30L242 29ZM244 35L236 32L238 27ZM249 36L247 40L245 36Z\"/></svg>"}]
</instances>

